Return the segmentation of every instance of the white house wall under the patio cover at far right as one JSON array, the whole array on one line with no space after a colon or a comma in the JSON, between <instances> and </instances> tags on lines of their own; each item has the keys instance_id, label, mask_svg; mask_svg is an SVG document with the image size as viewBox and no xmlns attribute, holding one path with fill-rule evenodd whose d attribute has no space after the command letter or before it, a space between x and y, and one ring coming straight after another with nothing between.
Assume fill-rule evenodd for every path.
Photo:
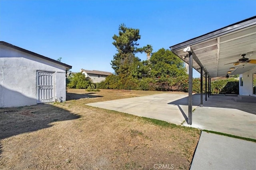
<instances>
[{"instance_id":1,"label":"white house wall under the patio cover at far right","mask_svg":"<svg viewBox=\"0 0 256 170\"><path fill-rule=\"evenodd\" d=\"M240 86L239 82L239 94L244 96L253 96L253 89L252 89L252 81L253 81L253 73L256 73L256 68L245 72L244 74L240 74L240 78L243 78L243 86Z\"/></svg>"}]
</instances>

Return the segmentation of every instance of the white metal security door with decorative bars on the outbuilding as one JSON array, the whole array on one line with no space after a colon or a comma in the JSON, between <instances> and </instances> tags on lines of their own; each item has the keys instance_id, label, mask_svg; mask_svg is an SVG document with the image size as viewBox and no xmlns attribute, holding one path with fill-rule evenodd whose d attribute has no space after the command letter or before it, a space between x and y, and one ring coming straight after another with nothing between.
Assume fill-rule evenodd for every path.
<instances>
[{"instance_id":1,"label":"white metal security door with decorative bars on the outbuilding","mask_svg":"<svg viewBox=\"0 0 256 170\"><path fill-rule=\"evenodd\" d=\"M37 72L37 102L54 102L54 72Z\"/></svg>"}]
</instances>

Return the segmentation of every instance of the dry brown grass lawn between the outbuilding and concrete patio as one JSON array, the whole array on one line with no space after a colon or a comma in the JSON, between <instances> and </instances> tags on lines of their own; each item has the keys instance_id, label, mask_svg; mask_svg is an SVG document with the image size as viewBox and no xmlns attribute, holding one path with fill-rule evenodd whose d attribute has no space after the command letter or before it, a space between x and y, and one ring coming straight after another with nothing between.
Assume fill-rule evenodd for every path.
<instances>
[{"instance_id":1,"label":"dry brown grass lawn between the outbuilding and concrete patio","mask_svg":"<svg viewBox=\"0 0 256 170\"><path fill-rule=\"evenodd\" d=\"M0 169L189 169L198 129L86 106L159 94L70 89L68 101L0 109Z\"/></svg>"}]
</instances>

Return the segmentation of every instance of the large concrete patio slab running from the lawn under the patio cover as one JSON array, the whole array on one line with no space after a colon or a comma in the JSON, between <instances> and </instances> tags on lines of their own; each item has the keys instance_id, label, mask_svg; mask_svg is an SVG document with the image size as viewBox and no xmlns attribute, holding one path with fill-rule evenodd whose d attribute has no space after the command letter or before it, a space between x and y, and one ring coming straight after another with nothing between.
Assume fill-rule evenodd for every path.
<instances>
[{"instance_id":1,"label":"large concrete patio slab running from the lawn under the patio cover","mask_svg":"<svg viewBox=\"0 0 256 170\"><path fill-rule=\"evenodd\" d=\"M256 104L235 102L232 98L210 96L200 107L200 95L193 95L192 125L184 122L188 115L188 95L185 94L156 94L88 105L256 139Z\"/></svg>"}]
</instances>

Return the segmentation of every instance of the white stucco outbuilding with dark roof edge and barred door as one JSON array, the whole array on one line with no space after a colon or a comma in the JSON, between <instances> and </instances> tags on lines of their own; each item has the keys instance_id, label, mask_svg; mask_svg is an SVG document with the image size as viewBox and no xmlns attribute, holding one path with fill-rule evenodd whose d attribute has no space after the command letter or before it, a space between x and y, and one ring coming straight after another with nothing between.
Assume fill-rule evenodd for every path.
<instances>
[{"instance_id":1,"label":"white stucco outbuilding with dark roof edge and barred door","mask_svg":"<svg viewBox=\"0 0 256 170\"><path fill-rule=\"evenodd\" d=\"M0 107L66 100L68 64L0 41Z\"/></svg>"}]
</instances>

